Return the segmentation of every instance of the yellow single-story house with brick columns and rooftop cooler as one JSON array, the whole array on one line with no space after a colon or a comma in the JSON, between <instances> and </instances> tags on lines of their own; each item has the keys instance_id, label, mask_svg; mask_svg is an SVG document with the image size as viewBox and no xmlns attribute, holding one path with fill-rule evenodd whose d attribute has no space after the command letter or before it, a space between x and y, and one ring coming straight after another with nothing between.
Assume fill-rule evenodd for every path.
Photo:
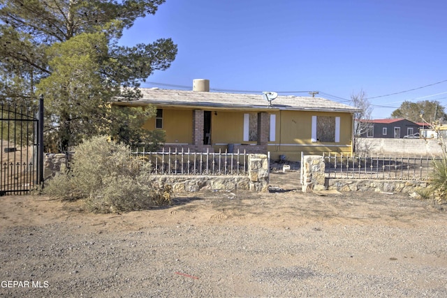
<instances>
[{"instance_id":1,"label":"yellow single-story house with brick columns and rooftop cooler","mask_svg":"<svg viewBox=\"0 0 447 298\"><path fill-rule=\"evenodd\" d=\"M194 80L193 91L141 89L142 98L114 105L154 105L156 117L144 128L166 131L171 150L263 153L298 161L301 151L352 152L356 107L325 98L210 92L208 80Z\"/></svg>"}]
</instances>

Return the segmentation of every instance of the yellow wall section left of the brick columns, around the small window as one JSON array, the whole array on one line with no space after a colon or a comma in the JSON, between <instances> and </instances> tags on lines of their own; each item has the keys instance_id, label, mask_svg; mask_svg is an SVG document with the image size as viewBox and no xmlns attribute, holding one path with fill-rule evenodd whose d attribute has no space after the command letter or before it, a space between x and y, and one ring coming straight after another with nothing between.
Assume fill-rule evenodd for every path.
<instances>
[{"instance_id":1,"label":"yellow wall section left of the brick columns, around the small window","mask_svg":"<svg viewBox=\"0 0 447 298\"><path fill-rule=\"evenodd\" d=\"M149 131L155 129L155 117L148 119L142 126ZM166 143L191 144L193 135L193 111L163 108L163 129L166 131Z\"/></svg>"}]
</instances>

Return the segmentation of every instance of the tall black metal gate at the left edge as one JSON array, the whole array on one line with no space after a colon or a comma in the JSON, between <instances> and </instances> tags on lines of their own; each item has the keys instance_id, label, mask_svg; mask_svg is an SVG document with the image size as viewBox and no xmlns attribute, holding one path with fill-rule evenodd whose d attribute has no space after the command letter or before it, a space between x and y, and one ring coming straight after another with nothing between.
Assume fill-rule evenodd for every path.
<instances>
[{"instance_id":1,"label":"tall black metal gate at the left edge","mask_svg":"<svg viewBox=\"0 0 447 298\"><path fill-rule=\"evenodd\" d=\"M43 97L38 106L0 105L0 195L28 194L43 183Z\"/></svg>"}]
</instances>

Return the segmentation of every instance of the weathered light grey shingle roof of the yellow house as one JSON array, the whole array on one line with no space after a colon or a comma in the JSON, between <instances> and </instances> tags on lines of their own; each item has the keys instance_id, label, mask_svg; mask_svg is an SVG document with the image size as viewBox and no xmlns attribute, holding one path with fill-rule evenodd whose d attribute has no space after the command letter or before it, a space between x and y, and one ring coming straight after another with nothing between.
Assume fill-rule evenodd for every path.
<instances>
[{"instance_id":1,"label":"weathered light grey shingle roof of the yellow house","mask_svg":"<svg viewBox=\"0 0 447 298\"><path fill-rule=\"evenodd\" d=\"M233 94L220 92L184 91L172 89L140 89L142 98L126 101L141 105L202 106L247 110L310 110L332 112L356 112L356 107L332 100L310 96L278 96L269 107L262 94ZM117 98L118 101L119 98ZM124 101L124 100L123 100Z\"/></svg>"}]
</instances>

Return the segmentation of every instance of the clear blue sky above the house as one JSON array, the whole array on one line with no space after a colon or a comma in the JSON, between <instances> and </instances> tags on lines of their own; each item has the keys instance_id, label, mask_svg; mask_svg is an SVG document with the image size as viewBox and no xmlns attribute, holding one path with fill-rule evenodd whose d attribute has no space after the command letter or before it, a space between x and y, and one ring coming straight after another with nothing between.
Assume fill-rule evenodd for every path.
<instances>
[{"instance_id":1,"label":"clear blue sky above the house","mask_svg":"<svg viewBox=\"0 0 447 298\"><path fill-rule=\"evenodd\" d=\"M446 106L446 13L445 0L167 0L120 43L177 44L172 66L142 87L204 78L211 89L320 91L347 104L363 90L379 119L404 100Z\"/></svg>"}]
</instances>

